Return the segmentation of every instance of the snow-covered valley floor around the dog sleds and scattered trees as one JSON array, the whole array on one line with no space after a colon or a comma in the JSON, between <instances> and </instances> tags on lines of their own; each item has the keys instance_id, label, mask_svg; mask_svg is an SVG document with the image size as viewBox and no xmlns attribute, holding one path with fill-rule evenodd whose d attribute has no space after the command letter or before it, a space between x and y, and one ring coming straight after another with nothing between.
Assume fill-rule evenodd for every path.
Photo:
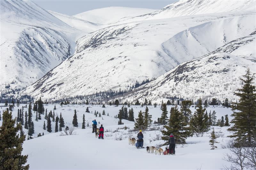
<instances>
[{"instance_id":1,"label":"snow-covered valley floor around the dog sleds and scattered trees","mask_svg":"<svg viewBox=\"0 0 256 170\"><path fill-rule=\"evenodd\" d=\"M25 106L22 104L21 106ZM19 108L21 108L21 106ZM33 106L32 106L33 107ZM54 105L44 105L47 111L53 111ZM86 113L85 109L89 107L90 112ZM163 140L157 138L161 136L159 130L143 131L144 147L137 149L135 146L128 144L128 137L137 137L137 131L129 131L129 129L120 129L124 126L133 129L134 122L123 120L124 125L117 125L118 110L122 106L108 106L102 108L101 105L56 105L56 114L61 115L65 121L65 127L72 127L72 119L74 109L77 111L78 128L76 128L77 135L60 136L60 132L50 133L43 130L44 115L42 120L35 121L35 113L33 113L32 120L35 124L35 136L38 133L43 133L44 136L26 140L23 144L23 154L28 154L28 164L31 169L220 169L223 165L228 165L222 158L228 149L222 149L221 145L229 140L227 137L227 127L214 127L215 131L222 132L223 137L217 138L220 142L217 144L218 148L210 150L209 136L210 133L205 133L203 137L189 137L184 146L177 145L176 155L155 155L155 153L147 153L146 146L159 146L164 144ZM145 110L144 107L131 106L134 110L134 117L137 118L140 110ZM148 106L149 113L152 115L153 121L160 117L160 106ZM170 111L171 106L167 109ZM5 107L1 108L1 114ZM24 109L24 113L28 108ZM94 111L102 114L103 109L106 115L102 117L95 117ZM129 108L128 108L129 109ZM190 108L192 113L195 107ZM13 117L17 115L18 107L14 107ZM223 108L221 106L208 107L207 112L216 111L217 119L224 115L231 115L230 108ZM28 111L28 110L27 110ZM81 129L82 117L85 115L86 125L89 122L90 127ZM109 114L109 116L107 116ZM169 116L170 114L168 114ZM98 124L103 124L105 133L104 140L99 140L92 133L92 120L96 119ZM229 117L231 120L231 117ZM100 122L100 123L99 123ZM2 120L0 121L0 126ZM52 130L54 130L55 122L52 122ZM27 130L23 129L25 134ZM117 130L117 132L114 132ZM109 132L106 132L109 131ZM122 137L123 140L116 140ZM161 147L162 149L165 146ZM51 155L51 156L49 156ZM170 158L171 157L171 158ZM44 163L42 163L42 161Z\"/></svg>"}]
</instances>

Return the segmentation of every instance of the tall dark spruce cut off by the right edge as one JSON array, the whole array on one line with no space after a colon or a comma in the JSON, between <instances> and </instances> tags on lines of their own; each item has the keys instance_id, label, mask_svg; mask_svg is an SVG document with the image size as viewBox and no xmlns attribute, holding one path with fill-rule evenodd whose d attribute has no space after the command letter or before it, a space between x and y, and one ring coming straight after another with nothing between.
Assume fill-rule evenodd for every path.
<instances>
[{"instance_id":1,"label":"tall dark spruce cut off by the right edge","mask_svg":"<svg viewBox=\"0 0 256 170\"><path fill-rule=\"evenodd\" d=\"M251 74L250 69L246 70L244 78L240 78L243 82L241 89L235 92L240 99L237 103L232 103L234 118L231 123L233 126L228 131L233 132L229 137L235 137L235 141L245 141L249 145L252 144L253 134L256 134L256 87L254 85L255 73Z\"/></svg>"}]
</instances>

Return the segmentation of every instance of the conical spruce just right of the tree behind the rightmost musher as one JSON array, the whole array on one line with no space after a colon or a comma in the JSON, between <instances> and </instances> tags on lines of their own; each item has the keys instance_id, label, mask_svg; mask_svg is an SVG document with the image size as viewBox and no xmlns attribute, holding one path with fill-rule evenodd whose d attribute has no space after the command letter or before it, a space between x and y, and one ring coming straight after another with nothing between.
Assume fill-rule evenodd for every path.
<instances>
[{"instance_id":1,"label":"conical spruce just right of the tree behind the rightmost musher","mask_svg":"<svg viewBox=\"0 0 256 170\"><path fill-rule=\"evenodd\" d=\"M202 107L201 98L198 100L196 107L197 109L190 119L190 127L195 133L207 132L209 130L209 123L204 114L205 108Z\"/></svg>"}]
</instances>

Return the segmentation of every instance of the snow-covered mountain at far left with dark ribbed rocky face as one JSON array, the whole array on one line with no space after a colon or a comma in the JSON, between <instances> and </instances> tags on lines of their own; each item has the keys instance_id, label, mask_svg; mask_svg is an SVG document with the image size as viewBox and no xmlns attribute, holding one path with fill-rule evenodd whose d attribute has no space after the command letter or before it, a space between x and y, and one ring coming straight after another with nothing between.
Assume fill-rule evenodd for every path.
<instances>
[{"instance_id":1,"label":"snow-covered mountain at far left with dark ribbed rocky face","mask_svg":"<svg viewBox=\"0 0 256 170\"><path fill-rule=\"evenodd\" d=\"M31 1L0 3L2 90L31 85L73 54L79 30Z\"/></svg>"}]
</instances>

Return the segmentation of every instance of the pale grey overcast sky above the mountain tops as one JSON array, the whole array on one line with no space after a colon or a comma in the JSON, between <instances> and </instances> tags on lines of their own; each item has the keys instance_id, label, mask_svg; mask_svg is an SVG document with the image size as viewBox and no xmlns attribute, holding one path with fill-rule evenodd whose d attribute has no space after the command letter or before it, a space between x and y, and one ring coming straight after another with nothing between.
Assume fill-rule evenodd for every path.
<instances>
[{"instance_id":1,"label":"pale grey overcast sky above the mountain tops","mask_svg":"<svg viewBox=\"0 0 256 170\"><path fill-rule=\"evenodd\" d=\"M110 6L161 9L177 0L32 0L45 10L66 15Z\"/></svg>"}]
</instances>

